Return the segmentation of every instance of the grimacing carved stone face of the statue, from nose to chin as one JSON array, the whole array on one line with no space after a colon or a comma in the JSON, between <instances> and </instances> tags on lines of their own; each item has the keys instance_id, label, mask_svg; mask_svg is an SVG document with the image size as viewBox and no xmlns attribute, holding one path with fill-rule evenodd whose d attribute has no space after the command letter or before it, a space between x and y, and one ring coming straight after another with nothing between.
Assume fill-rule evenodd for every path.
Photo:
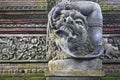
<instances>
[{"instance_id":1,"label":"grimacing carved stone face of the statue, from nose to chin","mask_svg":"<svg viewBox=\"0 0 120 80\"><path fill-rule=\"evenodd\" d=\"M71 16L66 17L65 23L56 33L61 36L58 43L61 49L69 54L79 52L79 47L83 47L87 40L87 31L84 22Z\"/></svg>"}]
</instances>

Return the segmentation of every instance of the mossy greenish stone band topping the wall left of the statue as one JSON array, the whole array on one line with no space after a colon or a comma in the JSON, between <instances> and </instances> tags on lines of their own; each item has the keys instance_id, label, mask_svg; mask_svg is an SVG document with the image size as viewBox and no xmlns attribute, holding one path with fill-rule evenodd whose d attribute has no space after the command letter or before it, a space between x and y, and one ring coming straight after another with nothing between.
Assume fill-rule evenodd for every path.
<instances>
[{"instance_id":1,"label":"mossy greenish stone band topping the wall left of the statue","mask_svg":"<svg viewBox=\"0 0 120 80\"><path fill-rule=\"evenodd\" d=\"M45 10L47 0L2 0L0 10Z\"/></svg>"}]
</instances>

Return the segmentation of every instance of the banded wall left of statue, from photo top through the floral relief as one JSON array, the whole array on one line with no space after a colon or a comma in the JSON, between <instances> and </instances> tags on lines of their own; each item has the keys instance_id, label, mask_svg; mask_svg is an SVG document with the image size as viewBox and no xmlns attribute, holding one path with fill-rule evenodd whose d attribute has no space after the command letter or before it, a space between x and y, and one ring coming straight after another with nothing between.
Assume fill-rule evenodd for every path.
<instances>
[{"instance_id":1,"label":"banded wall left of statue, from photo top through the floral relief","mask_svg":"<svg viewBox=\"0 0 120 80\"><path fill-rule=\"evenodd\" d=\"M47 0L0 1L0 62L46 61Z\"/></svg>"}]
</instances>

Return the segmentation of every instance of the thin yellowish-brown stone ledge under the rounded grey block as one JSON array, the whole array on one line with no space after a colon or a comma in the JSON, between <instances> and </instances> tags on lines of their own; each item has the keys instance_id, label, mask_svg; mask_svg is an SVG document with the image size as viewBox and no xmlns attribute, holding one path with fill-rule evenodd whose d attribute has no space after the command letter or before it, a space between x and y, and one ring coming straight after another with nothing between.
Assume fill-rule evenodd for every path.
<instances>
[{"instance_id":1,"label":"thin yellowish-brown stone ledge under the rounded grey block","mask_svg":"<svg viewBox=\"0 0 120 80\"><path fill-rule=\"evenodd\" d=\"M45 76L72 76L72 77L83 77L83 76L90 76L90 77L101 77L104 76L104 72L101 70L80 70L80 71L46 71Z\"/></svg>"}]
</instances>

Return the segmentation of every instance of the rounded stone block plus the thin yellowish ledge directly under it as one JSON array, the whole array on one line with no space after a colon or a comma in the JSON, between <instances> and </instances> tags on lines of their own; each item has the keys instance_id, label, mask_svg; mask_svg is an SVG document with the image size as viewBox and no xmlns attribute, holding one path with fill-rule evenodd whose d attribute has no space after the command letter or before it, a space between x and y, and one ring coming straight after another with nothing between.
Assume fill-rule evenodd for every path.
<instances>
[{"instance_id":1,"label":"rounded stone block plus the thin yellowish ledge directly under it","mask_svg":"<svg viewBox=\"0 0 120 80\"><path fill-rule=\"evenodd\" d=\"M51 60L48 63L48 76L103 76L101 71L102 61L100 59L91 60Z\"/></svg>"}]
</instances>

